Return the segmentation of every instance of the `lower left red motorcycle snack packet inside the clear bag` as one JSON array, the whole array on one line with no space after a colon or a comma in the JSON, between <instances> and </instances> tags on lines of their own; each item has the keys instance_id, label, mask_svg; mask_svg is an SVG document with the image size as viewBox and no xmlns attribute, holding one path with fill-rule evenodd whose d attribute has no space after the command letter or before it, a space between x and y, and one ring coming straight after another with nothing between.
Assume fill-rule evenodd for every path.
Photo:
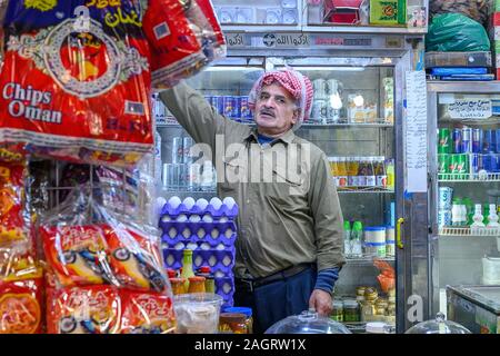
<instances>
[{"instance_id":1,"label":"lower left red motorcycle snack packet inside the clear bag","mask_svg":"<svg viewBox=\"0 0 500 356\"><path fill-rule=\"evenodd\" d=\"M49 334L119 334L121 299L112 286L56 290L48 308Z\"/></svg>"}]
</instances>

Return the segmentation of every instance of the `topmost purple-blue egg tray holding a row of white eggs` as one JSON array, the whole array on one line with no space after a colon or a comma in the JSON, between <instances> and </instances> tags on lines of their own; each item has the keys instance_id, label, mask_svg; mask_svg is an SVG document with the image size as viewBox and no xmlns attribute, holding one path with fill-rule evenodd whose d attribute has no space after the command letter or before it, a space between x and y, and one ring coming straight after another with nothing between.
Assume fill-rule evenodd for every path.
<instances>
[{"instance_id":1,"label":"topmost purple-blue egg tray holding a row of white eggs","mask_svg":"<svg viewBox=\"0 0 500 356\"><path fill-rule=\"evenodd\" d=\"M203 215L210 214L212 217L236 218L238 216L238 205L234 199L228 197L222 201L214 197L207 201L206 199L194 200L192 197L187 197L181 200L179 197L171 197L161 210L161 216L168 215L170 217L178 217L181 214Z\"/></svg>"}]
</instances>

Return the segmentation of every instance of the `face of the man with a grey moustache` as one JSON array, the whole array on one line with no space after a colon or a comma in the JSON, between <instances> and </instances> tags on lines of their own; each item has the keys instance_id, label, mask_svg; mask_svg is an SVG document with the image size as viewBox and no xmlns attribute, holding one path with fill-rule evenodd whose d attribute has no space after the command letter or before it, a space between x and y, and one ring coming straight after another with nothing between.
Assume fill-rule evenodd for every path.
<instances>
[{"instance_id":1,"label":"face of the man with a grey moustache","mask_svg":"<svg viewBox=\"0 0 500 356\"><path fill-rule=\"evenodd\" d=\"M257 98L254 117L260 134L279 136L297 122L299 109L293 97L274 82L262 87Z\"/></svg>"}]
</instances>

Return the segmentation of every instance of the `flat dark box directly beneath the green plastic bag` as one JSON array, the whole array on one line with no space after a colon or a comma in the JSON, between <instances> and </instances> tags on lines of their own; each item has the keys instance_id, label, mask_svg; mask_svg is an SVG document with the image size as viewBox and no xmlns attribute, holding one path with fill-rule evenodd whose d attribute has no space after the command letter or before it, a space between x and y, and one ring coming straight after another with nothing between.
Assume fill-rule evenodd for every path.
<instances>
[{"instance_id":1,"label":"flat dark box directly beneath the green plastic bag","mask_svg":"<svg viewBox=\"0 0 500 356\"><path fill-rule=\"evenodd\" d=\"M491 52L427 52L426 68L492 67Z\"/></svg>"}]
</instances>

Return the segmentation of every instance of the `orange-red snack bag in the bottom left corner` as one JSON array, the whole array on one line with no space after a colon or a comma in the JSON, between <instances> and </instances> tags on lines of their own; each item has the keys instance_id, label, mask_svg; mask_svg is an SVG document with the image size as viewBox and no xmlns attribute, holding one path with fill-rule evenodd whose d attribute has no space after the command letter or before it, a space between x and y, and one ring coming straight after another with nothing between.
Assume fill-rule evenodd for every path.
<instances>
[{"instance_id":1,"label":"orange-red snack bag in the bottom left corner","mask_svg":"<svg viewBox=\"0 0 500 356\"><path fill-rule=\"evenodd\" d=\"M22 279L0 279L0 334L42 332L42 287L40 268Z\"/></svg>"}]
</instances>

